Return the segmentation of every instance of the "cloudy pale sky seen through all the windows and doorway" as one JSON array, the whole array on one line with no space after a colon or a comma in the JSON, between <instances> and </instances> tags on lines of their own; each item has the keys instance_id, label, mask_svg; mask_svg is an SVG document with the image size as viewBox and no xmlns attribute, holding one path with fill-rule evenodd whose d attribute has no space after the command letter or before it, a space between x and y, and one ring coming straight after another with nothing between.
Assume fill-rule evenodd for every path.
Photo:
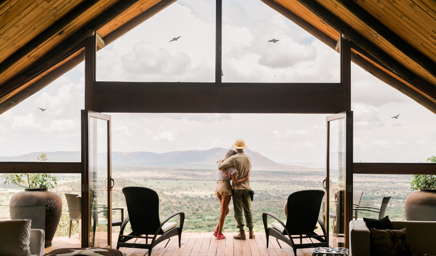
<instances>
[{"instance_id":1,"label":"cloudy pale sky seen through all the windows and doorway","mask_svg":"<svg viewBox=\"0 0 436 256\"><path fill-rule=\"evenodd\" d=\"M214 19L214 1L177 1L99 51L97 80L213 82ZM259 0L224 0L223 73L224 82L339 82L339 54ZM81 63L0 115L0 156L80 151L83 108ZM352 110L355 162L436 155L436 115L354 64ZM109 114L113 151L207 150L242 138L276 162L325 163L327 115Z\"/></svg>"}]
</instances>

